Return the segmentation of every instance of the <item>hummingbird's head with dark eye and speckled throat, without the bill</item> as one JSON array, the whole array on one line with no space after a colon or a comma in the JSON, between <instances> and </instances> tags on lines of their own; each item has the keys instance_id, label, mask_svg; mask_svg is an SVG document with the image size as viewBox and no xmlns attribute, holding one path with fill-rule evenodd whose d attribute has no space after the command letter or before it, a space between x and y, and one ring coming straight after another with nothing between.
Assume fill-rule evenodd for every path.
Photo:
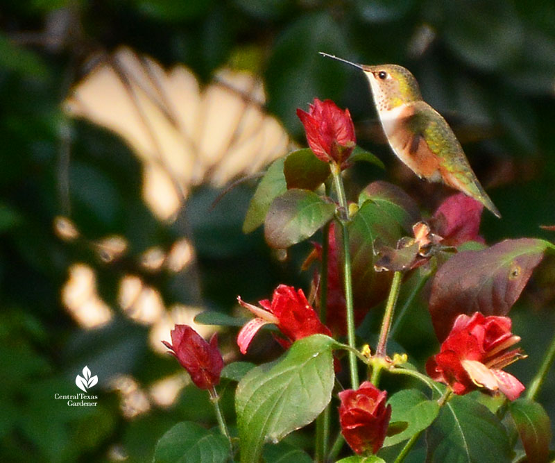
<instances>
[{"instance_id":1,"label":"hummingbird's head with dark eye and speckled throat, without the bill","mask_svg":"<svg viewBox=\"0 0 555 463\"><path fill-rule=\"evenodd\" d=\"M416 78L409 69L398 65L361 65L361 69L370 82L378 111L422 99Z\"/></svg>"}]
</instances>

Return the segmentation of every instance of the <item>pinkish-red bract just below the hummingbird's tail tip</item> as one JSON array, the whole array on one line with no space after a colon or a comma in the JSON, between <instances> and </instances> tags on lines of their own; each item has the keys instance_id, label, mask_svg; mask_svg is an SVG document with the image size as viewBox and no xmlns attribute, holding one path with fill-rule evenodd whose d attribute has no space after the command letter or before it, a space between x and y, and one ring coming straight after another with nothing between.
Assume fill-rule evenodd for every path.
<instances>
[{"instance_id":1,"label":"pinkish-red bract just below the hummingbird's tail tip","mask_svg":"<svg viewBox=\"0 0 555 463\"><path fill-rule=\"evenodd\" d=\"M464 193L449 196L432 219L434 232L443 238L444 246L459 246L467 241L484 242L478 235L484 205Z\"/></svg>"}]
</instances>

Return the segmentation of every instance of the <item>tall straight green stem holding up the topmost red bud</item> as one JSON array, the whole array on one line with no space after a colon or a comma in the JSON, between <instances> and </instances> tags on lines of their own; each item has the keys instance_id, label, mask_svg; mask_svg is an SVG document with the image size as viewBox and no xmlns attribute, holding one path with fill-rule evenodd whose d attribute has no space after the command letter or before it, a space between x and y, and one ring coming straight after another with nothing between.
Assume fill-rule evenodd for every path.
<instances>
[{"instance_id":1,"label":"tall straight green stem holding up the topmost red bud","mask_svg":"<svg viewBox=\"0 0 555 463\"><path fill-rule=\"evenodd\" d=\"M349 209L347 199L345 198L345 190L343 189L343 179L341 178L341 169L338 165L332 165L332 174L334 178L334 186L339 201L341 231L343 232L343 278L345 279L345 310L347 311L347 342L353 349L355 344L355 310L352 305L352 276L351 276L351 258L349 248L348 233L348 216ZM349 369L351 376L352 389L359 388L359 373L357 371L357 357L354 352L349 351Z\"/></svg>"}]
</instances>

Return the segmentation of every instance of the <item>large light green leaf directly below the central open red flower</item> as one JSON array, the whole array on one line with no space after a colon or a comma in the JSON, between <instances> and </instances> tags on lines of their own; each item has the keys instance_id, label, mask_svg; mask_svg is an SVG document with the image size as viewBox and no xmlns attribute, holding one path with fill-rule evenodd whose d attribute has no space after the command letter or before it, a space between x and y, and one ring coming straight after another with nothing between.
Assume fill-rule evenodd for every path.
<instances>
[{"instance_id":1,"label":"large light green leaf directly below the central open red flower","mask_svg":"<svg viewBox=\"0 0 555 463\"><path fill-rule=\"evenodd\" d=\"M334 340L312 335L280 360L257 367L239 382L235 410L241 462L256 462L266 441L278 442L316 419L332 398Z\"/></svg>"}]
</instances>

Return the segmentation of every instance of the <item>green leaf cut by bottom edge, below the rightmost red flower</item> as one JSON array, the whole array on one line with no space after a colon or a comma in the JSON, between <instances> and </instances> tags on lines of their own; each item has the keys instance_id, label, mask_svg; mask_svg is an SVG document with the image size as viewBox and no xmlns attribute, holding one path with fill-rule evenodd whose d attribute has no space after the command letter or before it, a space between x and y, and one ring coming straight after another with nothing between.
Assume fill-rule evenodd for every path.
<instances>
[{"instance_id":1,"label":"green leaf cut by bottom edge, below the rightmost red flower","mask_svg":"<svg viewBox=\"0 0 555 463\"><path fill-rule=\"evenodd\" d=\"M503 463L509 437L497 417L467 396L454 396L427 432L427 463Z\"/></svg>"}]
</instances>

